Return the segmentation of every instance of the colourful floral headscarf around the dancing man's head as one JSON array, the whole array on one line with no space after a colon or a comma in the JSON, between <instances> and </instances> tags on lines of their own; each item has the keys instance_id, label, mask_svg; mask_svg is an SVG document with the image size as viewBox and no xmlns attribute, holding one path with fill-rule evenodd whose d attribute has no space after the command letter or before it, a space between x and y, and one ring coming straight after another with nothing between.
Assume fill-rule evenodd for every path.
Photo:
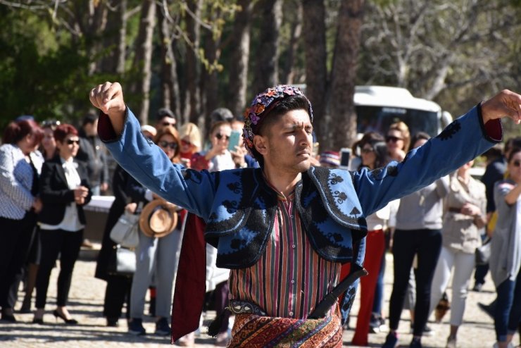
<instances>
[{"instance_id":1,"label":"colourful floral headscarf around the dancing man's head","mask_svg":"<svg viewBox=\"0 0 521 348\"><path fill-rule=\"evenodd\" d=\"M268 115L280 101L297 95L306 98L298 87L277 85L266 89L253 98L250 107L244 111L244 130L242 132L244 144L246 144L246 149L248 149L250 154L253 155L253 136L258 134L258 129L263 118ZM313 109L311 108L311 103L308 98L306 98L306 101L308 101L309 118L311 122L313 122Z\"/></svg>"}]
</instances>

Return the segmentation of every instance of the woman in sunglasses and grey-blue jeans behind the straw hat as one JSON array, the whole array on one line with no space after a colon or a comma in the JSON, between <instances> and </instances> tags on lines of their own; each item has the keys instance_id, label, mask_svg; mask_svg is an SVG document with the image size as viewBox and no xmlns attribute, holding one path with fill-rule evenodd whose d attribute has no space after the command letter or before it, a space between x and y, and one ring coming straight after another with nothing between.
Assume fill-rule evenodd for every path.
<instances>
[{"instance_id":1,"label":"woman in sunglasses and grey-blue jeans behind the straw hat","mask_svg":"<svg viewBox=\"0 0 521 348\"><path fill-rule=\"evenodd\" d=\"M165 126L159 128L154 141L165 152L172 163L180 163L180 137L175 128ZM127 194L132 203L125 209L136 211L139 201L147 202L159 198L139 182L130 178L127 182ZM139 233L139 244L136 248L136 272L132 278L130 290L130 321L128 333L145 335L143 313L146 290L152 279L156 286L156 335L170 335L170 307L172 305L172 288L177 271L177 256L181 247L180 225L178 219L175 229L161 238L149 237Z\"/></svg>"}]
</instances>

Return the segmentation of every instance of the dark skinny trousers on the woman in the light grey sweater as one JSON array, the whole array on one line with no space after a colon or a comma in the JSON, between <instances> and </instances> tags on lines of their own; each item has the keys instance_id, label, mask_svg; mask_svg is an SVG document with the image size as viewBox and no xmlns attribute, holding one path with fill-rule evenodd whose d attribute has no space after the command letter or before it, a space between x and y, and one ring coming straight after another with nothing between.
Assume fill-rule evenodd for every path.
<instances>
[{"instance_id":1,"label":"dark skinny trousers on the woman in the light grey sweater","mask_svg":"<svg viewBox=\"0 0 521 348\"><path fill-rule=\"evenodd\" d=\"M394 285L389 302L389 327L398 328L415 254L418 254L416 306L413 334L421 336L427 324L434 270L441 251L441 230L396 230L394 232Z\"/></svg>"}]
</instances>

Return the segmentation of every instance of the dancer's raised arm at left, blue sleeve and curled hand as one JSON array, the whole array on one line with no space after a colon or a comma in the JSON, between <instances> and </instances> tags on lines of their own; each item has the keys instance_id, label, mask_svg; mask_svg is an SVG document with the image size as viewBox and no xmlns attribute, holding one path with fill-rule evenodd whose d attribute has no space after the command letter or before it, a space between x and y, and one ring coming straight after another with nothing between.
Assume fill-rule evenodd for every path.
<instances>
[{"instance_id":1,"label":"dancer's raised arm at left, blue sleeve and curled hand","mask_svg":"<svg viewBox=\"0 0 521 348\"><path fill-rule=\"evenodd\" d=\"M215 195L214 175L172 164L163 150L144 137L139 121L123 101L119 83L94 87L89 97L102 111L98 135L115 161L144 187L206 220Z\"/></svg>"}]
</instances>

